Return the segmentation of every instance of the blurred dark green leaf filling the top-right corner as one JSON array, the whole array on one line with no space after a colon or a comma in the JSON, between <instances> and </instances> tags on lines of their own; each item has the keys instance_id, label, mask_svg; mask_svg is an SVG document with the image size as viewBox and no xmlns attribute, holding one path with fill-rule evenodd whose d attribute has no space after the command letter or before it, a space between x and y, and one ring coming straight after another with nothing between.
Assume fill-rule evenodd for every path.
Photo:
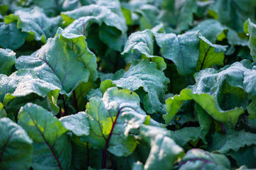
<instances>
[{"instance_id":1,"label":"blurred dark green leaf filling the top-right corner","mask_svg":"<svg viewBox=\"0 0 256 170\"><path fill-rule=\"evenodd\" d=\"M255 1L245 0L217 0L210 6L210 13L220 23L228 26L238 33L243 33L243 23L247 18L255 18Z\"/></svg>"}]
</instances>

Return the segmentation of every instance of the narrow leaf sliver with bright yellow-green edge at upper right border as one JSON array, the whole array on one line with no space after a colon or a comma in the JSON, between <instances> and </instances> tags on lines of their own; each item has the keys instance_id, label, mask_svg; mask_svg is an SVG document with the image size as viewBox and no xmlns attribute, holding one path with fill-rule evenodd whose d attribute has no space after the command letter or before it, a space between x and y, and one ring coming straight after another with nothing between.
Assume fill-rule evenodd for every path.
<instances>
[{"instance_id":1,"label":"narrow leaf sliver with bright yellow-green edge at upper right border","mask_svg":"<svg viewBox=\"0 0 256 170\"><path fill-rule=\"evenodd\" d=\"M252 55L253 60L256 60L256 25L250 21L250 18L245 21L244 24L245 33L249 34L249 44L250 44L250 55Z\"/></svg>"}]
</instances>

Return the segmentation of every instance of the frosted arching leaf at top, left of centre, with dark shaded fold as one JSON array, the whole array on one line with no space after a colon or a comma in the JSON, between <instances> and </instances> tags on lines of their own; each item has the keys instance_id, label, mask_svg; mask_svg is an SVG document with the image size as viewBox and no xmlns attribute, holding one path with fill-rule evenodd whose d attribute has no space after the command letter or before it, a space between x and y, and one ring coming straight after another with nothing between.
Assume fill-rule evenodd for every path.
<instances>
[{"instance_id":1,"label":"frosted arching leaf at top, left of centre, with dark shaded fold","mask_svg":"<svg viewBox=\"0 0 256 170\"><path fill-rule=\"evenodd\" d=\"M98 1L97 4L82 6L73 11L61 13L63 20L70 26L68 33L88 35L88 28L96 23L100 26L99 37L110 48L121 51L127 40L127 25L119 1ZM73 20L75 20L73 22ZM73 23L72 23L73 22Z\"/></svg>"}]
</instances>

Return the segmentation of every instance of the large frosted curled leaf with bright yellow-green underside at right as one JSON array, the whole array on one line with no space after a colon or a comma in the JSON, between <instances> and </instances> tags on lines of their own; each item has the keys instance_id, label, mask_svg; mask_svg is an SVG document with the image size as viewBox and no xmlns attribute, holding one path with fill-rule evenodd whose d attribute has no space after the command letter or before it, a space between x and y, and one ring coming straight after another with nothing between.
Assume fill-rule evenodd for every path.
<instances>
[{"instance_id":1,"label":"large frosted curled leaf with bright yellow-green underside at right","mask_svg":"<svg viewBox=\"0 0 256 170\"><path fill-rule=\"evenodd\" d=\"M181 98L184 97L193 98L215 120L223 123L230 122L234 127L239 115L243 113L242 108L247 106L247 94L255 95L255 67L252 66L250 61L242 60L242 62L235 62L219 72L215 69L205 69L195 74L196 84L194 86L183 89L180 95L166 101L166 110L169 113L165 115L166 120L173 118L171 114L175 114L181 108L183 101ZM194 97L198 99L191 95L196 95ZM201 99L199 100L199 98ZM206 102L206 100L209 101ZM207 104L203 104L204 102ZM212 111L215 113L211 113ZM223 111L228 114L223 114Z\"/></svg>"}]
</instances>

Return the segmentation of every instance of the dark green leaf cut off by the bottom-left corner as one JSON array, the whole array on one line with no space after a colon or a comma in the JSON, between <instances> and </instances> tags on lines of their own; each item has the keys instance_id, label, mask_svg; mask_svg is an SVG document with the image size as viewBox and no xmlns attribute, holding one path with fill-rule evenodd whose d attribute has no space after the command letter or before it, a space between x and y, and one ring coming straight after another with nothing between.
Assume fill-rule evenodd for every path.
<instances>
[{"instance_id":1,"label":"dark green leaf cut off by the bottom-left corner","mask_svg":"<svg viewBox=\"0 0 256 170\"><path fill-rule=\"evenodd\" d=\"M20 125L0 118L0 169L29 169L32 164L32 140Z\"/></svg>"}]
</instances>

